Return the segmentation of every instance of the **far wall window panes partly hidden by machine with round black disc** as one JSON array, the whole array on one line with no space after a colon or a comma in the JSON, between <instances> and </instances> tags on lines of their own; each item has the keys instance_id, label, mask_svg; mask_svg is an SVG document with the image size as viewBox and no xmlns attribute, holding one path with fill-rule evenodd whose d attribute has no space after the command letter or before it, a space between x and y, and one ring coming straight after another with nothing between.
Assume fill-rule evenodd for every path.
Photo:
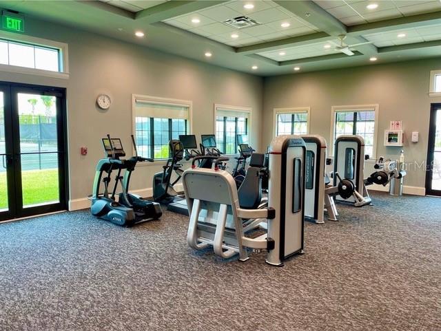
<instances>
[{"instance_id":1,"label":"far wall window panes partly hidden by machine with round black disc","mask_svg":"<svg viewBox=\"0 0 441 331\"><path fill-rule=\"evenodd\" d=\"M343 135L358 135L365 140L365 154L373 157L376 111L350 109L335 111L334 139Z\"/></svg>"}]
</instances>

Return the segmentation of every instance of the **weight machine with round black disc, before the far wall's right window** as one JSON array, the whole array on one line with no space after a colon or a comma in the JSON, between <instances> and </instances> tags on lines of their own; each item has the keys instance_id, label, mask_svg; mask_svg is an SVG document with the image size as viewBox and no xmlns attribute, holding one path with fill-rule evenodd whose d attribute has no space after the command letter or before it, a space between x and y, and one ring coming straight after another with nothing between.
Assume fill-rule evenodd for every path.
<instances>
[{"instance_id":1,"label":"weight machine with round black disc, before the far wall's right window","mask_svg":"<svg viewBox=\"0 0 441 331\"><path fill-rule=\"evenodd\" d=\"M339 136L334 145L334 174L339 175L334 175L333 179L334 186L340 185L341 189L345 189L345 193L336 193L336 200L352 202L357 207L371 204L363 177L364 168L365 140L356 135ZM354 194L351 191L355 191Z\"/></svg>"}]
</instances>

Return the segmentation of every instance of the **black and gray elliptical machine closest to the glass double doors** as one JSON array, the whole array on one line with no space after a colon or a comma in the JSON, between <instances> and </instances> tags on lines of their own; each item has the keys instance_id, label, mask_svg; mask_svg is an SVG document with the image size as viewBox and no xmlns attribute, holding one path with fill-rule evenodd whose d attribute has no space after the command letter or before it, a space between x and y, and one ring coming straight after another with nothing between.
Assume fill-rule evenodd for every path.
<instances>
[{"instance_id":1,"label":"black and gray elliptical machine closest to the glass double doors","mask_svg":"<svg viewBox=\"0 0 441 331\"><path fill-rule=\"evenodd\" d=\"M121 160L125 156L121 139L107 138L102 139L103 147L107 158L99 160L96 165L96 173L94 178L94 187L92 193L92 205L90 207L92 215L100 217L103 220L110 221L121 226L132 226L141 222L150 220L158 220L161 215L161 206L159 204L142 200L138 195L127 193L130 185L130 176L137 162L153 162L148 158L141 158L136 151L136 144L132 136L132 143L136 151L136 156ZM117 170L112 194L109 195L109 184L111 181L112 171ZM125 170L124 175L121 172ZM103 178L103 175L105 177ZM104 193L99 193L101 186L101 178L104 183ZM122 192L119 194L119 202L116 202L116 188L121 184Z\"/></svg>"}]
</instances>

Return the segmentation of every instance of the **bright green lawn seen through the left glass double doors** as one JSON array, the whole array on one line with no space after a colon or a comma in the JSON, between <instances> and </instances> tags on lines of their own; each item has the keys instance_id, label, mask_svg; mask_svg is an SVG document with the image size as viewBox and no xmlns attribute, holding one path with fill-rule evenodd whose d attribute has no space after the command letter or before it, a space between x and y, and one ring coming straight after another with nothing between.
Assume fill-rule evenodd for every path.
<instances>
[{"instance_id":1,"label":"bright green lawn seen through the left glass double doors","mask_svg":"<svg viewBox=\"0 0 441 331\"><path fill-rule=\"evenodd\" d=\"M21 173L23 205L59 200L58 169L28 170ZM0 173L0 209L8 207L6 173Z\"/></svg>"}]
</instances>

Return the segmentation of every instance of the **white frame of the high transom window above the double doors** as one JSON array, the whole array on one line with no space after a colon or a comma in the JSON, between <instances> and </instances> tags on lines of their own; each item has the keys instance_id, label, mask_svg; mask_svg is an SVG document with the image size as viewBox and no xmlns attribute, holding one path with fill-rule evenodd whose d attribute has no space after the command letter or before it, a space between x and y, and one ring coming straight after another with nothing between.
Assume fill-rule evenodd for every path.
<instances>
[{"instance_id":1,"label":"white frame of the high transom window above the double doors","mask_svg":"<svg viewBox=\"0 0 441 331\"><path fill-rule=\"evenodd\" d=\"M7 31L0 31L0 39L6 39L7 41L17 41L17 43L28 43L30 45L56 48L57 50L59 50L59 65L61 70L59 72L53 72L50 70L19 67L17 65L0 64L0 71L12 72L14 74L32 74L36 76L45 76L52 78L69 78L69 57L67 43L60 43L59 41L41 39L34 36L28 36L26 34L17 34Z\"/></svg>"}]
</instances>

